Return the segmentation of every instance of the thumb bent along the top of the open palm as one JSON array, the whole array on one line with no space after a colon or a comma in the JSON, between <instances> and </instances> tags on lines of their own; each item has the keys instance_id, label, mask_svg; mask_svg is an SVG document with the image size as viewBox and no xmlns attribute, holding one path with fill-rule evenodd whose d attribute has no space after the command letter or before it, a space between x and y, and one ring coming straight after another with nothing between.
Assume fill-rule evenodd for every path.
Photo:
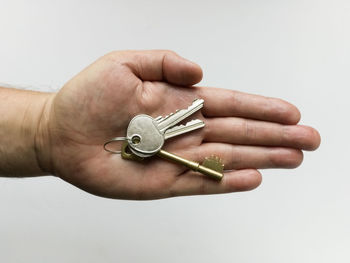
<instances>
[{"instance_id":1,"label":"thumb bent along the top of the open palm","mask_svg":"<svg viewBox=\"0 0 350 263\"><path fill-rule=\"evenodd\" d=\"M121 51L118 60L145 81L190 86L201 81L200 66L169 50Z\"/></svg>"}]
</instances>

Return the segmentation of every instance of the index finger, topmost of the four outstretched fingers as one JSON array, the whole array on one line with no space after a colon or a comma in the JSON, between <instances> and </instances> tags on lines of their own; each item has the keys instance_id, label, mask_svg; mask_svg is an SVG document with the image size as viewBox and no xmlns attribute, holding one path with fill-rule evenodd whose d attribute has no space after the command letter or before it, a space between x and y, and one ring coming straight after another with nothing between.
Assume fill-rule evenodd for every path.
<instances>
[{"instance_id":1,"label":"index finger, topmost of the four outstretched fingers","mask_svg":"<svg viewBox=\"0 0 350 263\"><path fill-rule=\"evenodd\" d=\"M281 99L220 88L194 88L205 100L202 113L206 117L242 117L291 125L300 120L299 110Z\"/></svg>"}]
</instances>

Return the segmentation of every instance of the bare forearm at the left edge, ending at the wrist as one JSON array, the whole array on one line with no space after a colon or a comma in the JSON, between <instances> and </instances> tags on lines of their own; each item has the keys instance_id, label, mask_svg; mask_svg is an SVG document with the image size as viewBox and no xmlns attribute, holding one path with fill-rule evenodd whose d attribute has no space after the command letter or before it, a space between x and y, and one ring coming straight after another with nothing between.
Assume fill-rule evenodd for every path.
<instances>
[{"instance_id":1,"label":"bare forearm at the left edge, ending at the wrist","mask_svg":"<svg viewBox=\"0 0 350 263\"><path fill-rule=\"evenodd\" d=\"M39 155L50 93L0 87L0 176L44 175Z\"/></svg>"}]
</instances>

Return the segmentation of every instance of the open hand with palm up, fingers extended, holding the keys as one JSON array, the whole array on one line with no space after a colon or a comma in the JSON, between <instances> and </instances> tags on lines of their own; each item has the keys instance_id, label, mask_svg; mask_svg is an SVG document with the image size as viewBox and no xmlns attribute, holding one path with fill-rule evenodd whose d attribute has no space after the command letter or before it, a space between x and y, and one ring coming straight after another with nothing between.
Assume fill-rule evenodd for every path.
<instances>
[{"instance_id":1,"label":"open hand with palm up, fingers extended, holding the keys","mask_svg":"<svg viewBox=\"0 0 350 263\"><path fill-rule=\"evenodd\" d=\"M50 172L92 194L122 199L245 191L257 187L256 169L294 168L301 150L320 144L318 132L297 125L300 113L283 100L194 87L201 68L170 51L113 52L70 80L46 105L43 134ZM158 157L123 160L103 149L125 136L130 119L185 108L203 98L203 129L166 142L165 149L197 162L210 155L225 164L221 182ZM43 156L43 155L42 155Z\"/></svg>"}]
</instances>

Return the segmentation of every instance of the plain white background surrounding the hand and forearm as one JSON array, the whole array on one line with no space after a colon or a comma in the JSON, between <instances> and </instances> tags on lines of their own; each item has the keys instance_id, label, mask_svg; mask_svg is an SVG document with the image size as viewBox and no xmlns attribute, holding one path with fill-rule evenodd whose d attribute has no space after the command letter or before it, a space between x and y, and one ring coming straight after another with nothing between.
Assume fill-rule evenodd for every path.
<instances>
[{"instance_id":1,"label":"plain white background surrounding the hand and forearm","mask_svg":"<svg viewBox=\"0 0 350 263\"><path fill-rule=\"evenodd\" d=\"M201 85L281 97L322 145L255 191L108 200L0 179L0 262L350 262L350 1L0 1L0 82L58 89L106 52L173 49Z\"/></svg>"}]
</instances>

